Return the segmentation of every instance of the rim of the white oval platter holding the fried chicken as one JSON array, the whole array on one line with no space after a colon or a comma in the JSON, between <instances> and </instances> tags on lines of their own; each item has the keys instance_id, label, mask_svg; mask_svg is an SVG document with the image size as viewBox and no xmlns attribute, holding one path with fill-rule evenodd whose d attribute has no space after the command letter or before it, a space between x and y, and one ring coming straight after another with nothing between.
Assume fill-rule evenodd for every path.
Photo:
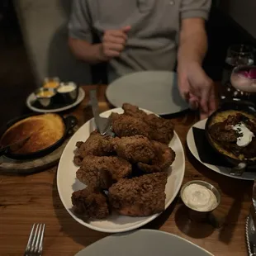
<instances>
[{"instance_id":1,"label":"rim of the white oval platter holding the fried chicken","mask_svg":"<svg viewBox=\"0 0 256 256\"><path fill-rule=\"evenodd\" d=\"M112 111L120 111L120 110L121 110L121 107L116 107L116 108L113 108L111 110L102 112L101 116L102 115L107 115L108 113L111 113ZM146 111L147 113L152 113L151 111L147 111L145 109L143 109L143 110ZM92 120L93 120L93 118L90 119L89 121L92 121ZM83 124L83 126L86 126L89 121L87 121L85 124ZM81 126L78 130L83 129L83 126ZM182 186L183 178L184 178L184 175L185 175L185 154L184 154L183 144L182 144L180 138L178 137L178 134L175 132L175 130L174 130L174 135L176 135L176 137L178 139L178 143L179 143L179 145L181 146L181 149L182 149L182 159L183 159L183 168L182 169L183 169L183 173L181 175L180 182L178 183L178 189L176 190L176 192L173 193L173 198L171 200L169 200L168 203L165 205L164 211L168 208L168 206L171 205L171 203L173 202L175 197L177 197L178 192L180 190L180 187ZM73 138L71 137L71 139L69 140L68 144L65 146L64 151L63 151L63 153L62 153L62 155L61 155L61 157L59 159L59 165L60 165L60 163L61 163L61 161L63 159L65 150L69 147L69 145L71 145L72 139ZM59 178L59 175L60 175L59 174L59 165L58 165L58 169L57 169L57 188L58 188L58 192L59 192L59 186L60 186L60 184L59 184L59 180L60 180L60 178ZM78 223L80 223L80 224L82 224L82 225L84 225L84 226L86 226L86 227L88 227L88 228L90 228L92 230L97 230L97 231L106 232L106 233L122 233L122 232L127 232L127 231L130 231L130 230L135 230L135 229L139 228L140 226L146 225L147 223L149 223L150 221L154 220L156 217L158 217L161 213L164 212L163 211L161 213L154 214L152 216L148 216L148 217L146 217L145 220L141 221L139 224L131 225L130 227L127 227L127 228L116 229L116 230L110 230L110 229L107 230L107 229L103 229L103 228L97 227L95 225L90 225L89 223L79 219L77 216L75 216L73 214L72 211L69 210L69 206L67 206L65 204L64 198L63 198L63 196L62 196L62 194L60 192L59 192L59 197L60 197L60 200L62 201L66 211L69 212L69 215L72 216L74 220L78 221ZM70 197L71 197L71 195L70 195Z\"/></svg>"}]
</instances>

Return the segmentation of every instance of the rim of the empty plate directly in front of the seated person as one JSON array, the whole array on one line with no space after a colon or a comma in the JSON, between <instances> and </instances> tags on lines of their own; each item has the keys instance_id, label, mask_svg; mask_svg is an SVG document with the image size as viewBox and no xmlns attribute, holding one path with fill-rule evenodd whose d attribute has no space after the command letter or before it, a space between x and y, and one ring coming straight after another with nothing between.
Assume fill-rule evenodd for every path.
<instances>
[{"instance_id":1,"label":"rim of the empty plate directly in front of the seated person","mask_svg":"<svg viewBox=\"0 0 256 256\"><path fill-rule=\"evenodd\" d=\"M111 83L108 84L107 86L107 90L106 90L106 97L107 97L107 101L111 103L112 106L118 108L118 106L116 105L115 102L113 102L111 100L111 87L113 86L113 84L116 83L120 83L120 81L122 81L123 79L129 79L130 77L133 77L137 74L140 73L173 73L174 75L177 75L176 72L174 71L168 71L168 70L145 70L145 71L137 71L137 72L133 72L133 73L127 73L124 76L121 76L120 78L116 78L116 80L112 81ZM174 115L174 114L178 114L181 113L183 111L187 111L187 109L189 108L189 106L187 107L183 107L183 109L181 111L175 111L175 112L171 112L171 111L162 111L157 113L159 116L168 116L168 115Z\"/></svg>"}]
</instances>

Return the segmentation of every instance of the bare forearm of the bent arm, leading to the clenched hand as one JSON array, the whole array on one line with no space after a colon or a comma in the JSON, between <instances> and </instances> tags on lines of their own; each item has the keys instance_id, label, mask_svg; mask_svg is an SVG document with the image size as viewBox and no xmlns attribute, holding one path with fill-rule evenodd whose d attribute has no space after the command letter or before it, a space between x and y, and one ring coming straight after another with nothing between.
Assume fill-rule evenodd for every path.
<instances>
[{"instance_id":1,"label":"bare forearm of the bent arm, leading to the clenched hand","mask_svg":"<svg viewBox=\"0 0 256 256\"><path fill-rule=\"evenodd\" d=\"M98 64L105 61L102 57L102 44L92 45L85 40L69 38L69 47L77 59L88 64Z\"/></svg>"}]
</instances>

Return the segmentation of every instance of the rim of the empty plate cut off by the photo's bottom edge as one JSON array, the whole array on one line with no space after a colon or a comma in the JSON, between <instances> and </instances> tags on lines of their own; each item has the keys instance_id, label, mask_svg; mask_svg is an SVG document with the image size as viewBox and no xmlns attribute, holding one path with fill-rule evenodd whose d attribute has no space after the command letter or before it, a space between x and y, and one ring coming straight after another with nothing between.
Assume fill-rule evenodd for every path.
<instances>
[{"instance_id":1,"label":"rim of the empty plate cut off by the photo's bottom edge","mask_svg":"<svg viewBox=\"0 0 256 256\"><path fill-rule=\"evenodd\" d=\"M181 239L183 240L184 242L188 243L188 244L192 244L193 246L197 247L198 249L201 249L202 251L204 251L206 254L208 254L209 256L214 256L213 254L211 254L209 251L207 251L206 249L202 248L201 246L197 245L197 244L194 244L192 243L191 241L179 236L179 235L175 235L175 234L172 234L172 233L168 233L166 231L163 231L163 230L149 230L149 229L141 229L141 230L134 230L134 231L130 231L130 232L127 232L127 233L121 233L121 234L115 234L115 235L108 235L107 237L104 237L102 239L99 239L98 241L96 241L95 243L93 244L90 244L88 245L87 248L84 248L84 249L81 249L80 251L78 251L77 254L75 254L74 256L78 256L78 254L80 253L83 253L83 251L86 252L86 250L88 248L91 248L92 246L96 246L97 244L100 244L102 242L102 240L104 239L109 239L109 238L118 238L119 236L121 235L132 235L133 233L154 233L154 234L163 234L163 235L168 235L169 237L175 237L177 239Z\"/></svg>"}]
</instances>

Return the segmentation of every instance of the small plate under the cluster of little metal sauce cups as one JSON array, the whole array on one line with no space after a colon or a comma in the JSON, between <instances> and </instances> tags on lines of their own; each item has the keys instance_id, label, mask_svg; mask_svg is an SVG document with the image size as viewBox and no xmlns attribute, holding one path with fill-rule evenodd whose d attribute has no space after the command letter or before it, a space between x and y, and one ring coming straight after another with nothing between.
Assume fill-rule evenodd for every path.
<instances>
[{"instance_id":1,"label":"small plate under the cluster of little metal sauce cups","mask_svg":"<svg viewBox=\"0 0 256 256\"><path fill-rule=\"evenodd\" d=\"M72 104L67 105L65 107L59 107L59 108L54 108L54 109L43 109L43 108L38 108L38 107L32 106L32 103L36 101L36 96L34 93L31 93L31 95L26 98L26 107L31 109L31 111L35 111L38 113L56 113L56 112L65 111L72 107L77 106L79 103L83 102L84 97L85 97L85 93L83 91L83 88L79 88L78 98Z\"/></svg>"}]
</instances>

